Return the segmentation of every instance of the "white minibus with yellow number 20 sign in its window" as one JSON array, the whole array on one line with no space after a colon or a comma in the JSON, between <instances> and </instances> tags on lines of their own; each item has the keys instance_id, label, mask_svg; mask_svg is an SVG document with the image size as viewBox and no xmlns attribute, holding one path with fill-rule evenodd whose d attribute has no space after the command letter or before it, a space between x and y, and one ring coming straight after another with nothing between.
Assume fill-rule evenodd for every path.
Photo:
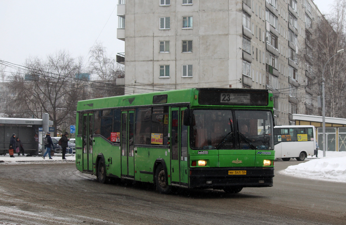
<instances>
[{"instance_id":1,"label":"white minibus with yellow number 20 sign in its window","mask_svg":"<svg viewBox=\"0 0 346 225\"><path fill-rule=\"evenodd\" d=\"M315 127L311 125L275 126L275 158L288 161L296 158L303 161L307 156L316 154Z\"/></svg>"}]
</instances>

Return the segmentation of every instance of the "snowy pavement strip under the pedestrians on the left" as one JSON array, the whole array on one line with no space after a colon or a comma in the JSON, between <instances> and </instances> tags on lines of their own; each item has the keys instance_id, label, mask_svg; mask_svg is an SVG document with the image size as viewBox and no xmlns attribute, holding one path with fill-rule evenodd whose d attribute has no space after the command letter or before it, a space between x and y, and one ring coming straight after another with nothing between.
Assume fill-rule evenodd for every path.
<instances>
[{"instance_id":1,"label":"snowy pavement strip under the pedestrians on the left","mask_svg":"<svg viewBox=\"0 0 346 225\"><path fill-rule=\"evenodd\" d=\"M27 157L26 154L24 156L20 155L18 156L18 154L14 154L14 158L10 157L9 154L4 155L0 155L0 165L3 164L34 164L34 163L42 163L42 162L54 162L54 163L58 163L58 162L71 162L71 160L75 161L76 160L76 156L72 155L72 154L66 154L65 158L67 160L63 160L62 159L62 154L54 154L54 156L52 156L53 159L49 159L49 156L46 155L45 159L42 158L42 156L30 156Z\"/></svg>"}]
</instances>

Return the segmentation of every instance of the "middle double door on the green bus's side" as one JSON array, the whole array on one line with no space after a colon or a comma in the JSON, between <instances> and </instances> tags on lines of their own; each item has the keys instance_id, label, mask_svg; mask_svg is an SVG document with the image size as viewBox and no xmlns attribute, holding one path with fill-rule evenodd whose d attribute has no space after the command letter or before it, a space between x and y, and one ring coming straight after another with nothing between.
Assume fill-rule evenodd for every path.
<instances>
[{"instance_id":1,"label":"middle double door on the green bus's side","mask_svg":"<svg viewBox=\"0 0 346 225\"><path fill-rule=\"evenodd\" d=\"M135 178L134 162L134 111L121 112L121 176Z\"/></svg>"}]
</instances>

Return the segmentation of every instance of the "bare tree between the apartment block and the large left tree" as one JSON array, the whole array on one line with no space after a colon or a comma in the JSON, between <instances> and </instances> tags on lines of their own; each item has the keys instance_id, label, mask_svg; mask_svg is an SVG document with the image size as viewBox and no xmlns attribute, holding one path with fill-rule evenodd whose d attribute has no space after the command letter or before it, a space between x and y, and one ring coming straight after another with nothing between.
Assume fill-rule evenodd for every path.
<instances>
[{"instance_id":1,"label":"bare tree between the apartment block and the large left tree","mask_svg":"<svg viewBox=\"0 0 346 225\"><path fill-rule=\"evenodd\" d=\"M117 84L118 78L124 78L123 65L116 62L115 58L107 56L106 48L102 43L97 43L90 49L89 71L97 75L97 80L92 83L94 98L124 95L124 88Z\"/></svg>"}]
</instances>

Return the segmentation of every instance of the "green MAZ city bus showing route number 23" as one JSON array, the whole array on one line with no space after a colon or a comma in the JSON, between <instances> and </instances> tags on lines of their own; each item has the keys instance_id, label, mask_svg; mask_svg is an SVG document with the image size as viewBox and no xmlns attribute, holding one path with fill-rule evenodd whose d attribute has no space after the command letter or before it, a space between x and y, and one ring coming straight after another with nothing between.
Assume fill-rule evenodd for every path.
<instances>
[{"instance_id":1,"label":"green MAZ city bus showing route number 23","mask_svg":"<svg viewBox=\"0 0 346 225\"><path fill-rule=\"evenodd\" d=\"M97 176L238 193L271 187L270 90L191 88L79 101L76 168Z\"/></svg>"}]
</instances>

